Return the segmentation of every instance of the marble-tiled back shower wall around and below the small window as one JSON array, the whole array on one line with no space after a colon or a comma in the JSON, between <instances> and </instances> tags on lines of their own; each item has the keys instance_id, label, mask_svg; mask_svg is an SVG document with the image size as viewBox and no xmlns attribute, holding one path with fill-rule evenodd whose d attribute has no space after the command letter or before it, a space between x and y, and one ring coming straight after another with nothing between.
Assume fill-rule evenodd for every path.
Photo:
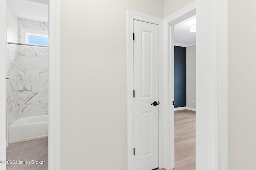
<instances>
[{"instance_id":1,"label":"marble-tiled back shower wall around and below the small window","mask_svg":"<svg viewBox=\"0 0 256 170\"><path fill-rule=\"evenodd\" d=\"M48 23L18 19L18 42L21 29L48 31ZM48 49L18 48L18 117L48 114Z\"/></svg>"}]
</instances>

